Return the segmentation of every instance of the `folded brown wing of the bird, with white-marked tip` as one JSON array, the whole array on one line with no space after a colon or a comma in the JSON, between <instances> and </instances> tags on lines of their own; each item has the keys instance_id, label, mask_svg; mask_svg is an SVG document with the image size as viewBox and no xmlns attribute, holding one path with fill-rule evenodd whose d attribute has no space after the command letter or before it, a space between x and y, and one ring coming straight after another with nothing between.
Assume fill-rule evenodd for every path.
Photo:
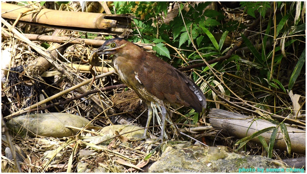
<instances>
[{"instance_id":1,"label":"folded brown wing of the bird, with white-marked tip","mask_svg":"<svg viewBox=\"0 0 307 174\"><path fill-rule=\"evenodd\" d=\"M176 103L202 112L206 107L204 94L199 87L179 70L151 53L144 53L138 69L138 78L144 88L167 103ZM196 94L197 93L197 94Z\"/></svg>"}]
</instances>

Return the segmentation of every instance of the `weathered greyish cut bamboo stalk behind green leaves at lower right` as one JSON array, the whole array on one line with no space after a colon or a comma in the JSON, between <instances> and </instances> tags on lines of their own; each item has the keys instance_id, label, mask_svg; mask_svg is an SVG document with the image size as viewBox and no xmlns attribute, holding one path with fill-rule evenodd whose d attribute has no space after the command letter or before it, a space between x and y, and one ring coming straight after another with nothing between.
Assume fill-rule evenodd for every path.
<instances>
[{"instance_id":1,"label":"weathered greyish cut bamboo stalk behind green leaves at lower right","mask_svg":"<svg viewBox=\"0 0 307 174\"><path fill-rule=\"evenodd\" d=\"M221 130L224 134L229 136L235 136L238 139L246 136L251 136L253 133L268 128L276 127L276 125L269 121L258 119L254 120L253 117L248 117L242 114L231 113L222 109L210 109L208 114L210 125L216 129ZM291 152L304 154L306 150L306 132L305 130L291 128L287 126L291 141ZM271 132L263 133L261 136L269 144ZM256 143L260 143L258 138L252 139ZM274 148L287 150L285 140L282 137L282 133L279 129L276 140L274 142Z\"/></svg>"}]
</instances>

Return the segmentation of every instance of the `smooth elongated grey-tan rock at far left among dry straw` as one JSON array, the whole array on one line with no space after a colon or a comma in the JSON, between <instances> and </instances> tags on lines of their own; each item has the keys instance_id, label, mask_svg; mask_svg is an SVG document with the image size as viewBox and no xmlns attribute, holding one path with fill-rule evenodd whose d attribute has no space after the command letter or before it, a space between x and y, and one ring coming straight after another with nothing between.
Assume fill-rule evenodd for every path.
<instances>
[{"instance_id":1,"label":"smooth elongated grey-tan rock at far left among dry straw","mask_svg":"<svg viewBox=\"0 0 307 174\"><path fill-rule=\"evenodd\" d=\"M46 136L54 138L63 138L76 135L79 130L65 128L65 126L74 126L82 128L89 121L84 118L68 113L43 113L24 115L11 119L6 123L7 127L19 136L36 137ZM92 126L90 123L89 126Z\"/></svg>"}]
</instances>

